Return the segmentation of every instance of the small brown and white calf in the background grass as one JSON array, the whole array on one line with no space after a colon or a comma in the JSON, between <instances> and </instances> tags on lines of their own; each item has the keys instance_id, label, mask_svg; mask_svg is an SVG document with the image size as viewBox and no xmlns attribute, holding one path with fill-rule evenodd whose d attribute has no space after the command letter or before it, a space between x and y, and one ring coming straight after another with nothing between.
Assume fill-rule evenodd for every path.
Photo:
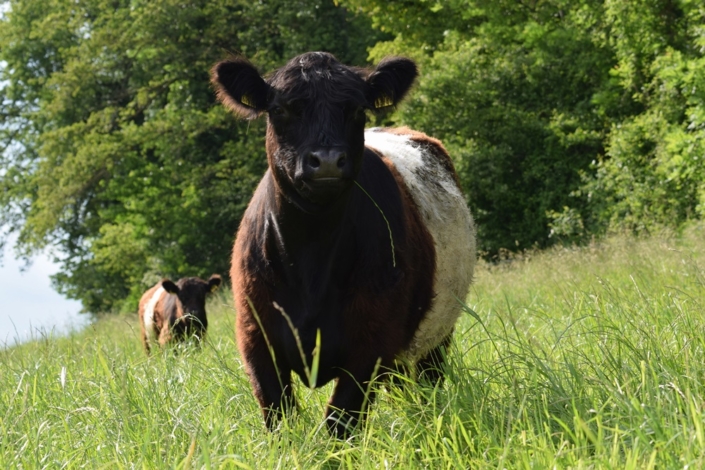
<instances>
[{"instance_id":1,"label":"small brown and white calf in the background grass","mask_svg":"<svg viewBox=\"0 0 705 470\"><path fill-rule=\"evenodd\" d=\"M196 336L203 339L208 328L206 295L215 292L221 278L214 274L204 281L183 277L176 283L162 279L142 295L139 306L142 343L147 354L150 343L160 346Z\"/></svg>"}]
</instances>

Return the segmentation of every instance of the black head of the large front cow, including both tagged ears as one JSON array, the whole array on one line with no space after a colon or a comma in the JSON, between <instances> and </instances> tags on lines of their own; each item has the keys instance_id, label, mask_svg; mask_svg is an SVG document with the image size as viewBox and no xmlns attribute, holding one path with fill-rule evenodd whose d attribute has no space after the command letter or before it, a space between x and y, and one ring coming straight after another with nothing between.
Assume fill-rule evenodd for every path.
<instances>
[{"instance_id":1,"label":"black head of the large front cow, including both tagged ears","mask_svg":"<svg viewBox=\"0 0 705 470\"><path fill-rule=\"evenodd\" d=\"M325 205L349 188L364 152L365 110L396 105L416 78L409 59L372 70L309 52L264 79L243 58L213 67L218 98L240 116L267 113L267 155L278 187L299 206Z\"/></svg>"}]
</instances>

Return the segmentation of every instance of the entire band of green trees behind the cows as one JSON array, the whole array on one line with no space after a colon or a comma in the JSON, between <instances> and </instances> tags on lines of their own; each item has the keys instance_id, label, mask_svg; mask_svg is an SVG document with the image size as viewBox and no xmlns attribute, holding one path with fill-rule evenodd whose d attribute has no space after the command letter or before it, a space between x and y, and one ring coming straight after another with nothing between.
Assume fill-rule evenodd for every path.
<instances>
[{"instance_id":1,"label":"entire band of green trees behind the cows","mask_svg":"<svg viewBox=\"0 0 705 470\"><path fill-rule=\"evenodd\" d=\"M0 228L56 246L57 287L130 309L161 275L225 273L263 124L208 69L307 50L421 66L378 123L442 139L488 257L705 216L696 0L11 0L0 22ZM127 301L123 302L123 299Z\"/></svg>"}]
</instances>

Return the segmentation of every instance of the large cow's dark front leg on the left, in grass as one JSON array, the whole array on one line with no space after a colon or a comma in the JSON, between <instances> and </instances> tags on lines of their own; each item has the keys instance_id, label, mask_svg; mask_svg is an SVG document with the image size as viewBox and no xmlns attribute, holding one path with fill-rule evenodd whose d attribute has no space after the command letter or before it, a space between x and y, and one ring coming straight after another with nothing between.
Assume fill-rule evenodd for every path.
<instances>
[{"instance_id":1,"label":"large cow's dark front leg on the left, in grass","mask_svg":"<svg viewBox=\"0 0 705 470\"><path fill-rule=\"evenodd\" d=\"M271 431L276 428L285 412L295 408L291 370L274 361L261 337L243 345L241 353L264 422Z\"/></svg>"}]
</instances>

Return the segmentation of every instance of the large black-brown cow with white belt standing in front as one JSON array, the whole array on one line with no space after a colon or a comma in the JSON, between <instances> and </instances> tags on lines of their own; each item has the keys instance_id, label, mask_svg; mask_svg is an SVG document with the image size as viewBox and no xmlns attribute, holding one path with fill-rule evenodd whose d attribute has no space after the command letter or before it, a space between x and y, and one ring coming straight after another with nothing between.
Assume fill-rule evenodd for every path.
<instances>
[{"instance_id":1,"label":"large black-brown cow with white belt standing in front","mask_svg":"<svg viewBox=\"0 0 705 470\"><path fill-rule=\"evenodd\" d=\"M212 70L228 108L267 114L269 169L230 274L238 347L270 428L293 405L292 371L310 386L337 380L326 418L338 437L372 400L375 371L401 360L442 380L475 266L473 220L441 142L365 131L366 111L396 105L416 75L404 58L366 70L322 52L266 79L242 58Z\"/></svg>"}]
</instances>

